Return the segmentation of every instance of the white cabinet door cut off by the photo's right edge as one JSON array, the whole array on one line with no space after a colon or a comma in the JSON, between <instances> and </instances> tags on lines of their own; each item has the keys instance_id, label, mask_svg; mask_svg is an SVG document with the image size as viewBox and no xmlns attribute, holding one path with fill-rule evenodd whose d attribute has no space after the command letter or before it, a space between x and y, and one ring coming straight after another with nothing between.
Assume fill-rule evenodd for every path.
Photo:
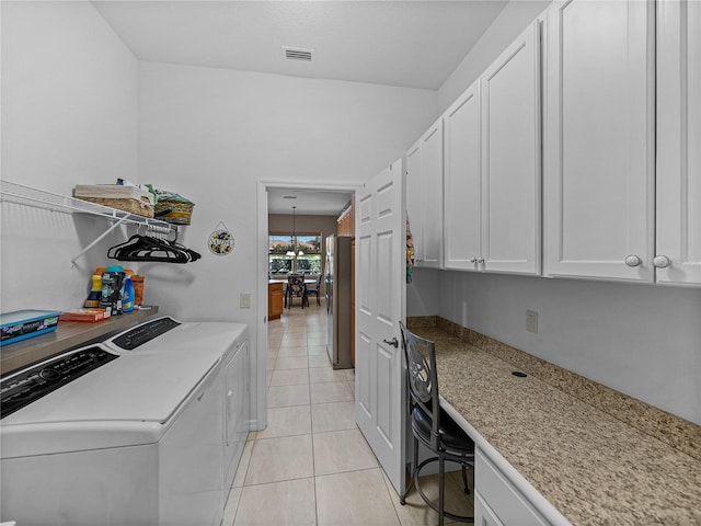
<instances>
[{"instance_id":1,"label":"white cabinet door cut off by the photo's right edge","mask_svg":"<svg viewBox=\"0 0 701 526\"><path fill-rule=\"evenodd\" d=\"M656 268L701 284L701 2L660 0L657 16Z\"/></svg>"}]
</instances>

